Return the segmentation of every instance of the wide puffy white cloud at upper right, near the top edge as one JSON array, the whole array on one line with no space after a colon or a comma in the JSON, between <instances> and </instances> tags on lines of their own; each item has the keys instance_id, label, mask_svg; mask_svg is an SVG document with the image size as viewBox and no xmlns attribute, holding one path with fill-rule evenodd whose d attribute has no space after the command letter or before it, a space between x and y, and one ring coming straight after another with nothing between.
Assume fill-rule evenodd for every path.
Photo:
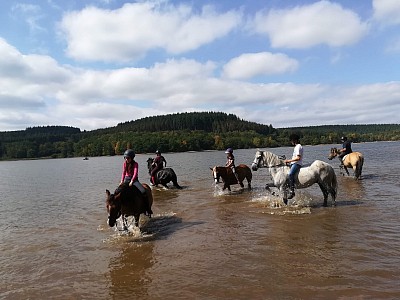
<instances>
[{"instance_id":1,"label":"wide puffy white cloud at upper right, near the top edge","mask_svg":"<svg viewBox=\"0 0 400 300\"><path fill-rule=\"evenodd\" d=\"M368 25L356 13L325 0L259 12L253 26L257 33L268 35L275 48L346 46L358 42L368 32Z\"/></svg>"}]
</instances>

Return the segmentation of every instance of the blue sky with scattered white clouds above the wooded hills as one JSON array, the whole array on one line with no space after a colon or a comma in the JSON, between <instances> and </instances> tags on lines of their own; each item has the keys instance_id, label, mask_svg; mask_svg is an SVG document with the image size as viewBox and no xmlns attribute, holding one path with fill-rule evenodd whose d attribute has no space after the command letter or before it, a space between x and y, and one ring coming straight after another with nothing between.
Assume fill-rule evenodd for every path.
<instances>
[{"instance_id":1,"label":"blue sky with scattered white clouds above the wooded hills","mask_svg":"<svg viewBox=\"0 0 400 300\"><path fill-rule=\"evenodd\" d=\"M400 1L0 1L0 131L203 111L400 123Z\"/></svg>"}]
</instances>

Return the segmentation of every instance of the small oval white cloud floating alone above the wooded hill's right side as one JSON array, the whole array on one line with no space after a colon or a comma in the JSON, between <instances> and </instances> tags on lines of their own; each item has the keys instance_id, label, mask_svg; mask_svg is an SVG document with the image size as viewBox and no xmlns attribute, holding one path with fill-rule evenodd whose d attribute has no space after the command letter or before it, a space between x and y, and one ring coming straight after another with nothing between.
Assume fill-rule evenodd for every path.
<instances>
[{"instance_id":1,"label":"small oval white cloud floating alone above the wooded hill's right side","mask_svg":"<svg viewBox=\"0 0 400 300\"><path fill-rule=\"evenodd\" d=\"M282 53L245 53L231 59L223 67L223 76L231 79L249 79L258 75L294 72L298 62Z\"/></svg>"}]
</instances>

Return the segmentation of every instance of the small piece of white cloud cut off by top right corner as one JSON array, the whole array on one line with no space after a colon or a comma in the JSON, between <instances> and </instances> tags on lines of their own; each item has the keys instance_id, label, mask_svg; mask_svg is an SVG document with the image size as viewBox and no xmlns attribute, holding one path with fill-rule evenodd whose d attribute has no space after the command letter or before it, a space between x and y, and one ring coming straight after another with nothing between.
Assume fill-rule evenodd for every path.
<instances>
[{"instance_id":1,"label":"small piece of white cloud cut off by top right corner","mask_svg":"<svg viewBox=\"0 0 400 300\"><path fill-rule=\"evenodd\" d=\"M400 1L373 0L374 19L384 25L400 24Z\"/></svg>"}]
</instances>

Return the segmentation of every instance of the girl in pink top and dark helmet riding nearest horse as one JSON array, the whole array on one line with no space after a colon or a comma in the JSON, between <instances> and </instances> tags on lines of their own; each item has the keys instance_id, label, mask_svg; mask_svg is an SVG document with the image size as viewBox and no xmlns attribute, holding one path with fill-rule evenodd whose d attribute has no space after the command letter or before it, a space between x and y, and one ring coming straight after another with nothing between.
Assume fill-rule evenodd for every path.
<instances>
[{"instance_id":1,"label":"girl in pink top and dark helmet riding nearest horse","mask_svg":"<svg viewBox=\"0 0 400 300\"><path fill-rule=\"evenodd\" d=\"M146 194L146 190L143 185L139 182L139 164L135 161L135 152L132 149L128 149L124 153L124 164L122 166L122 176L119 187L132 186L134 185L143 196L146 204L147 215L151 217L153 211L149 205L149 199Z\"/></svg>"}]
</instances>

